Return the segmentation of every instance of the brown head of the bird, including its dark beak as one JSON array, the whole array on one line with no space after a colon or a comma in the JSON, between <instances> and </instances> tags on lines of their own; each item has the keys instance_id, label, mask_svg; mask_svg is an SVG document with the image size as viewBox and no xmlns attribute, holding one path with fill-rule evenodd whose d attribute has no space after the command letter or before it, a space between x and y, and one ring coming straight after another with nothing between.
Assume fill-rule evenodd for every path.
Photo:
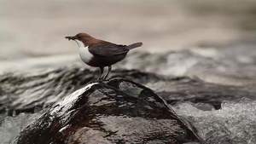
<instances>
[{"instance_id":1,"label":"brown head of the bird, including its dark beak","mask_svg":"<svg viewBox=\"0 0 256 144\"><path fill-rule=\"evenodd\" d=\"M84 47L87 47L88 45L90 45L92 43L97 43L98 41L100 41L100 40L96 39L95 37L91 37L87 33L79 33L79 34L77 34L75 36L67 36L65 38L67 38L68 40L74 40L78 44L80 42L82 42L82 43L84 43Z\"/></svg>"}]
</instances>

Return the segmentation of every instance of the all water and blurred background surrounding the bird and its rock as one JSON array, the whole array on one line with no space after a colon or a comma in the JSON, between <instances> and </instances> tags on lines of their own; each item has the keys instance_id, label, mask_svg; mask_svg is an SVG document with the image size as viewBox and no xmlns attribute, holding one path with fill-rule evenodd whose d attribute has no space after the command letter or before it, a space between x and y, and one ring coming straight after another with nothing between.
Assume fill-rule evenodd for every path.
<instances>
[{"instance_id":1,"label":"all water and blurred background surrounding the bird and its rock","mask_svg":"<svg viewBox=\"0 0 256 144\"><path fill-rule=\"evenodd\" d=\"M96 77L64 39L77 32L142 41L111 77L154 89L209 144L256 143L254 1L0 3L1 143Z\"/></svg>"}]
</instances>

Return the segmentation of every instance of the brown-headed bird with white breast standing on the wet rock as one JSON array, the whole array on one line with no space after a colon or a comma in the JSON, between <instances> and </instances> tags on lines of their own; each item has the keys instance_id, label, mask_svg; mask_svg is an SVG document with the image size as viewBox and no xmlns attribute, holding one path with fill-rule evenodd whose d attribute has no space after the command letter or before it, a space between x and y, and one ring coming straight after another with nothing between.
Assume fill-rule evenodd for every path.
<instances>
[{"instance_id":1,"label":"brown-headed bird with white breast standing on the wet rock","mask_svg":"<svg viewBox=\"0 0 256 144\"><path fill-rule=\"evenodd\" d=\"M97 78L99 81L104 81L108 78L111 72L112 65L125 59L125 56L131 49L141 47L143 43L133 43L130 45L110 43L89 34L80 32L75 36L65 37L68 40L75 41L79 46L79 56L85 64L89 66L99 67L100 75ZM108 72L102 78L104 67L108 66Z\"/></svg>"}]
</instances>

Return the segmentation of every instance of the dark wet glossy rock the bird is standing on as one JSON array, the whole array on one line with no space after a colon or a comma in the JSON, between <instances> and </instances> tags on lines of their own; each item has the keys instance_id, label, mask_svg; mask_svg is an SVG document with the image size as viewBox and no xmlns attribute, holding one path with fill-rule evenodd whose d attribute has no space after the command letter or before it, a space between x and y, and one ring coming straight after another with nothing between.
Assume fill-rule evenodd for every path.
<instances>
[{"instance_id":1,"label":"dark wet glossy rock the bird is standing on","mask_svg":"<svg viewBox=\"0 0 256 144\"><path fill-rule=\"evenodd\" d=\"M50 107L20 133L30 143L200 142L153 90L124 78L92 83Z\"/></svg>"}]
</instances>

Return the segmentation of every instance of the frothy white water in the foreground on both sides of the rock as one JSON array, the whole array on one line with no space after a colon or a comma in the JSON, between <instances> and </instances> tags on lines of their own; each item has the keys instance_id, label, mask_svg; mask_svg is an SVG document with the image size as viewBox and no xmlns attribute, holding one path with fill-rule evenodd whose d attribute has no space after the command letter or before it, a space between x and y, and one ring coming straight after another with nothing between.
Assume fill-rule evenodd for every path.
<instances>
[{"instance_id":1,"label":"frothy white water in the foreground on both sides of the rock","mask_svg":"<svg viewBox=\"0 0 256 144\"><path fill-rule=\"evenodd\" d=\"M256 101L224 101L219 110L190 102L183 102L172 108L179 115L188 118L208 144L256 143ZM31 124L41 113L20 113L17 117L4 118L0 127L1 143L15 143L20 130Z\"/></svg>"}]
</instances>

